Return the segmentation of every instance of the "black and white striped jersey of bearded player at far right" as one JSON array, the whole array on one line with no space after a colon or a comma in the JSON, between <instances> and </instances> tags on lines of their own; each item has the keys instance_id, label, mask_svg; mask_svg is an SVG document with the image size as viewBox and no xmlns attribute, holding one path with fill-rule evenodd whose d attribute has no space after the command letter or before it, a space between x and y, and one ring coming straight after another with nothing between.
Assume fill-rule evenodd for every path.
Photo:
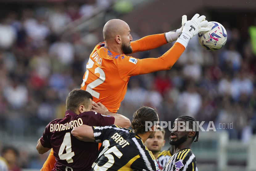
<instances>
[{"instance_id":1,"label":"black and white striped jersey of bearded player at far right","mask_svg":"<svg viewBox=\"0 0 256 171\"><path fill-rule=\"evenodd\" d=\"M182 149L173 154L162 171L196 171L196 157L191 149Z\"/></svg>"}]
</instances>

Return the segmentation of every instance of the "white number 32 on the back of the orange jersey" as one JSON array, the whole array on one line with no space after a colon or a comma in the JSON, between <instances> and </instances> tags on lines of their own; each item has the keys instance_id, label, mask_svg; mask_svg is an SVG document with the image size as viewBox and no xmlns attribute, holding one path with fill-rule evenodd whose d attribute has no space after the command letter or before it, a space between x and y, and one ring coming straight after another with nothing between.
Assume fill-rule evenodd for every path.
<instances>
[{"instance_id":1,"label":"white number 32 on the back of the orange jersey","mask_svg":"<svg viewBox=\"0 0 256 171\"><path fill-rule=\"evenodd\" d=\"M86 65L85 78L83 79L82 87L85 85L85 82L88 79L88 76L89 76L89 70L88 69L92 68L93 64L94 64L93 60L91 58L89 58L88 64ZM100 97L100 93L94 91L93 88L95 88L98 85L102 84L105 81L106 77L105 77L104 71L100 67L95 68L94 74L97 74L97 73L100 74L100 77L98 79L94 80L93 82L89 83L86 86L86 91L91 93L91 95L93 97L99 98Z\"/></svg>"}]
</instances>

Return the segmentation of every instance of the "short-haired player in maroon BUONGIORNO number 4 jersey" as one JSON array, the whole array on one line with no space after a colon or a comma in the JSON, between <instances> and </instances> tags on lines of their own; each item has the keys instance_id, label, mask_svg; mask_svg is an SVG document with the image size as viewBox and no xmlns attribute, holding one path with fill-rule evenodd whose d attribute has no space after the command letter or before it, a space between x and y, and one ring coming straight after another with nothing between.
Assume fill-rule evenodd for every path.
<instances>
[{"instance_id":1,"label":"short-haired player in maroon BUONGIORNO number 4 jersey","mask_svg":"<svg viewBox=\"0 0 256 171\"><path fill-rule=\"evenodd\" d=\"M66 100L65 117L51 121L45 128L43 136L38 140L38 153L46 153L51 148L56 158L54 171L90 170L97 157L98 144L76 139L70 133L79 125L106 126L117 124L129 127L130 120L122 115L108 113L105 116L91 111L92 95L82 89L72 90ZM121 124L122 123L122 124Z\"/></svg>"}]
</instances>

